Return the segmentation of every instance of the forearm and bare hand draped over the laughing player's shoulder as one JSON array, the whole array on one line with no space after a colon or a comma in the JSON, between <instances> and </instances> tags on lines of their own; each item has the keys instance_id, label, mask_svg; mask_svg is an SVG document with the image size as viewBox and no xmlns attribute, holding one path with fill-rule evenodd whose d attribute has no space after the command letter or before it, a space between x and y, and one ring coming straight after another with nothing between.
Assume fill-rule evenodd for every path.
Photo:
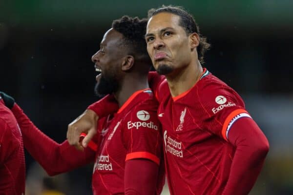
<instances>
[{"instance_id":1,"label":"forearm and bare hand draped over the laughing player's shoulder","mask_svg":"<svg viewBox=\"0 0 293 195\"><path fill-rule=\"evenodd\" d=\"M99 101L91 104L84 113L68 125L67 139L70 145L82 150L87 147L89 141L97 133L97 121L99 118L117 112L119 105L112 95L107 95ZM80 135L87 134L82 143Z\"/></svg>"}]
</instances>

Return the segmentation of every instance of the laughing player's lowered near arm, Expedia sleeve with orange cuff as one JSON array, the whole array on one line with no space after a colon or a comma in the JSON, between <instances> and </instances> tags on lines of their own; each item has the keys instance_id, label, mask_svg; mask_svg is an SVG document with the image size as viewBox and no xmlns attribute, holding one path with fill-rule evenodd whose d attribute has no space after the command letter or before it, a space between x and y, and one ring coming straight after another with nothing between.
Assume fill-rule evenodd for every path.
<instances>
[{"instance_id":1,"label":"laughing player's lowered near arm, Expedia sleeve with orange cuff","mask_svg":"<svg viewBox=\"0 0 293 195\"><path fill-rule=\"evenodd\" d=\"M154 195L156 193L162 137L156 110L149 107L150 104L137 106L133 109L131 116L126 116L123 123L127 151L126 195ZM139 119L138 112L146 114L148 119Z\"/></svg>"}]
</instances>

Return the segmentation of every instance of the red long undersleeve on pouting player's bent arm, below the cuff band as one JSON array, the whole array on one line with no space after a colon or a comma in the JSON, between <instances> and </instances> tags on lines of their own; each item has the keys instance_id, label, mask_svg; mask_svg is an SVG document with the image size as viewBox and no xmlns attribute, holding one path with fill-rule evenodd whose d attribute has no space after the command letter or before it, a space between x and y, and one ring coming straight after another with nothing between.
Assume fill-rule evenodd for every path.
<instances>
[{"instance_id":1,"label":"red long undersleeve on pouting player's bent arm, below the cuff band","mask_svg":"<svg viewBox=\"0 0 293 195\"><path fill-rule=\"evenodd\" d=\"M261 171L269 151L269 142L249 117L232 124L229 141L236 151L223 195L247 195Z\"/></svg>"}]
</instances>

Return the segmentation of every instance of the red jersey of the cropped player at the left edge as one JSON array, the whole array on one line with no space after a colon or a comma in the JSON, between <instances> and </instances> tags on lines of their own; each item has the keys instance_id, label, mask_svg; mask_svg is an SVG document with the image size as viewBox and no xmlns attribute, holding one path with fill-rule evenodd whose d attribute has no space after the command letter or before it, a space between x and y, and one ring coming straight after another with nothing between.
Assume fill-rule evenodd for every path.
<instances>
[{"instance_id":1,"label":"red jersey of the cropped player at the left edge","mask_svg":"<svg viewBox=\"0 0 293 195\"><path fill-rule=\"evenodd\" d=\"M24 195L25 162L21 131L0 98L0 195Z\"/></svg>"}]
</instances>

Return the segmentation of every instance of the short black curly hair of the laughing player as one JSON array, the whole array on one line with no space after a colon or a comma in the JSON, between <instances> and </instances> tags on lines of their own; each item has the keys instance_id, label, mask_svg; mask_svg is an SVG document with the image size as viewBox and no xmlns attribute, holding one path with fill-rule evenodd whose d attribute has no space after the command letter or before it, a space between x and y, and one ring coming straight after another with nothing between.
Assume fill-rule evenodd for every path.
<instances>
[{"instance_id":1,"label":"short black curly hair of the laughing player","mask_svg":"<svg viewBox=\"0 0 293 195\"><path fill-rule=\"evenodd\" d=\"M146 50L146 24L147 19L123 16L112 22L112 28L124 36L123 46L127 47L129 55L151 64Z\"/></svg>"}]
</instances>

